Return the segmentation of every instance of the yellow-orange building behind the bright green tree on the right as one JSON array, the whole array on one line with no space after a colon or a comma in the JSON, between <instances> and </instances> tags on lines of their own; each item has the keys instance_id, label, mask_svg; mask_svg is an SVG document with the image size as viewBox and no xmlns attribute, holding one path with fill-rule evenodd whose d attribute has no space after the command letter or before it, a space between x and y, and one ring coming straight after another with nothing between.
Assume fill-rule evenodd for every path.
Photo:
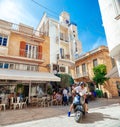
<instances>
[{"instance_id":1,"label":"yellow-orange building behind the bright green tree on the right","mask_svg":"<svg viewBox=\"0 0 120 127\"><path fill-rule=\"evenodd\" d=\"M76 82L84 81L87 82L90 90L95 89L95 85L93 83L93 67L105 64L107 67L107 73L115 66L114 60L109 56L108 48L105 46L100 46L92 51L81 55L75 61L75 73L74 79ZM108 96L118 96L117 84L120 82L119 78L110 78L106 85L104 85L101 89L103 92L107 92Z\"/></svg>"}]
</instances>

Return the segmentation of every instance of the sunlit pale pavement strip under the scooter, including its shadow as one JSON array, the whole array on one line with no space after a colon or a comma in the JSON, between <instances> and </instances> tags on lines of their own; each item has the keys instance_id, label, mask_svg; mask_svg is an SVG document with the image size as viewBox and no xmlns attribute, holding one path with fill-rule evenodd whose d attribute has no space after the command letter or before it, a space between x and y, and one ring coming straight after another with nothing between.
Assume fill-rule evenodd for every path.
<instances>
[{"instance_id":1,"label":"sunlit pale pavement strip under the scooter, including its shadow","mask_svg":"<svg viewBox=\"0 0 120 127\"><path fill-rule=\"evenodd\" d=\"M113 104L89 110L82 123L74 121L74 114L25 122L5 127L120 127L120 105Z\"/></svg>"}]
</instances>

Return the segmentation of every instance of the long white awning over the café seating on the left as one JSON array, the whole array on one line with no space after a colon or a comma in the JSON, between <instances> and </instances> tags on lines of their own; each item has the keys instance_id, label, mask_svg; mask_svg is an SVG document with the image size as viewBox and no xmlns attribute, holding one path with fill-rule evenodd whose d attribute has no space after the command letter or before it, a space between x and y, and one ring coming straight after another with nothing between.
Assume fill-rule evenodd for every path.
<instances>
[{"instance_id":1,"label":"long white awning over the caf\u00e9 seating on the left","mask_svg":"<svg viewBox=\"0 0 120 127\"><path fill-rule=\"evenodd\" d=\"M61 79L48 72L33 72L21 70L0 69L1 80L22 80L22 81L60 81Z\"/></svg>"}]
</instances>

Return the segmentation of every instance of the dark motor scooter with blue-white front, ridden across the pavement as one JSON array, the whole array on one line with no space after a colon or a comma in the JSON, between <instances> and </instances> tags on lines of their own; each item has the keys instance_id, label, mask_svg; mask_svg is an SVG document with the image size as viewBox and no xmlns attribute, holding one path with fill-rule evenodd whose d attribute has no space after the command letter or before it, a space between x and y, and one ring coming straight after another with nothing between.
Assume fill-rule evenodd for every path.
<instances>
[{"instance_id":1,"label":"dark motor scooter with blue-white front, ridden across the pavement","mask_svg":"<svg viewBox=\"0 0 120 127\"><path fill-rule=\"evenodd\" d=\"M82 122L83 115L85 115L85 109L84 109L84 103L85 99L83 96L81 96L79 93L76 93L74 100L73 100L73 109L75 113L75 121L77 123Z\"/></svg>"}]
</instances>

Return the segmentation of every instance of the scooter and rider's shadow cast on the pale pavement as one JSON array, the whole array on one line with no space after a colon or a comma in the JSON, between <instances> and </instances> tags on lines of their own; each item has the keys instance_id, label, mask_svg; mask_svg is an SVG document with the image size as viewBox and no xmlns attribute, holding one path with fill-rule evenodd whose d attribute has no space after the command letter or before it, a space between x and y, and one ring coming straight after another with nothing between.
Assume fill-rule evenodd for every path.
<instances>
[{"instance_id":1,"label":"scooter and rider's shadow cast on the pale pavement","mask_svg":"<svg viewBox=\"0 0 120 127\"><path fill-rule=\"evenodd\" d=\"M97 121L104 121L105 119L119 120L117 118L113 118L110 115L102 114L102 113L88 113L83 117L82 123L94 123Z\"/></svg>"}]
</instances>

